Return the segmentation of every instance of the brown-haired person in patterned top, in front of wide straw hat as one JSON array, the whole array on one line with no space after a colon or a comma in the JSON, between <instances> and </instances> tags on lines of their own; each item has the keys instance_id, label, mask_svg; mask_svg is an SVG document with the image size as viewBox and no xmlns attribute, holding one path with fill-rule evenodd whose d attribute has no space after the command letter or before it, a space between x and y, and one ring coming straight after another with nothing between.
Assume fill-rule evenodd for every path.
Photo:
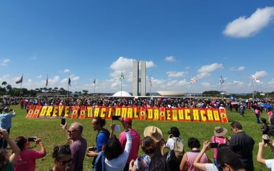
<instances>
[{"instance_id":1,"label":"brown-haired person in patterned top, in front of wide straw hat","mask_svg":"<svg viewBox=\"0 0 274 171\"><path fill-rule=\"evenodd\" d=\"M142 151L145 153L138 157L135 161L132 160L129 163L129 170L132 171L145 171L149 170L149 163L151 161L151 157L155 154L155 142L154 140L147 136L144 137L141 141Z\"/></svg>"}]
</instances>

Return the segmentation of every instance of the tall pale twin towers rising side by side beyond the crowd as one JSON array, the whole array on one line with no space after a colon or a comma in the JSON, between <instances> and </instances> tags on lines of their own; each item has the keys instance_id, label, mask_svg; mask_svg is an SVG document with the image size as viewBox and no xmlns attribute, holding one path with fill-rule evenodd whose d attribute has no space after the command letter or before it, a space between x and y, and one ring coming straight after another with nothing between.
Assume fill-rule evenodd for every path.
<instances>
[{"instance_id":1,"label":"tall pale twin towers rising side by side beyond the crowd","mask_svg":"<svg viewBox=\"0 0 274 171\"><path fill-rule=\"evenodd\" d=\"M140 70L139 70L140 68ZM139 89L140 83L140 89ZM146 62L133 61L133 96L145 96L146 95Z\"/></svg>"}]
</instances>

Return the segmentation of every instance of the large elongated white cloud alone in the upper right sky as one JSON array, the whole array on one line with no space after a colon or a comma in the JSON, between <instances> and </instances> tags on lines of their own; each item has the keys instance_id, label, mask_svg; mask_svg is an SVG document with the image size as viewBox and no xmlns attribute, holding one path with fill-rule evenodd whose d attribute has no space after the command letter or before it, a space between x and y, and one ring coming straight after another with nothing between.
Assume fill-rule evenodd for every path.
<instances>
[{"instance_id":1,"label":"large elongated white cloud alone in the upper right sky","mask_svg":"<svg viewBox=\"0 0 274 171\"><path fill-rule=\"evenodd\" d=\"M274 17L274 8L258 8L250 17L240 16L229 22L223 31L225 36L233 38L247 38L258 34L258 32L269 25Z\"/></svg>"}]
</instances>

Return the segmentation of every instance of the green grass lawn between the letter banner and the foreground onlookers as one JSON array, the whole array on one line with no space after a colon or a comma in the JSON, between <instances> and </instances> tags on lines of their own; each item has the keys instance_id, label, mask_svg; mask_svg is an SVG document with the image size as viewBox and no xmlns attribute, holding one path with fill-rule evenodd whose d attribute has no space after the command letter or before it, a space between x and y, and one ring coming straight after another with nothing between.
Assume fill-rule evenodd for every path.
<instances>
[{"instance_id":1,"label":"green grass lawn between the letter banner and the foreground onlookers","mask_svg":"<svg viewBox=\"0 0 274 171\"><path fill-rule=\"evenodd\" d=\"M65 144L67 142L66 135L60 128L60 119L55 118L44 118L44 119L26 119L26 110L20 109L19 106L12 106L11 109L15 109L17 116L12 118L12 129L10 132L10 137L14 140L17 136L23 135L25 137L37 136L42 139L42 142L45 144L47 149L47 156L43 159L36 160L36 170L49 170L53 166L53 159L51 157L53 146L56 144ZM227 111L227 116L229 118L229 123L208 123L208 122L172 122L172 121L148 121L148 120L134 120L133 128L140 132L142 137L145 127L153 125L159 127L162 130L164 139L168 137L168 131L170 127L178 127L181 132L181 137L185 141L185 149L188 150L187 140L189 137L196 137L201 144L203 140L210 140L213 135L214 127L222 126L226 127L229 131L227 136L232 136L233 133L229 129L229 124L232 120L237 120L242 124L244 131L253 137L256 144L253 149L253 161L255 165L255 170L267 170L266 166L258 163L256 161L256 156L258 152L258 142L262 141L262 131L259 131L258 128L260 125L256 124L256 117L249 110L245 111L245 117L240 117L240 114L236 112ZM267 118L266 112L262 114L262 117ZM83 137L88 141L88 146L95 145L95 137L97 132L93 131L91 126L91 120L71 120L67 119L68 125L71 122L80 122L84 126ZM110 120L107 120L106 128L110 128ZM122 125L120 124L121 128ZM118 136L119 133L116 133ZM37 149L34 143L32 144L33 149ZM142 150L139 151L142 154ZM212 150L207 152L210 159L213 159ZM272 159L273 153L269 147L264 148L264 158ZM84 161L84 170L90 170L92 158L86 157Z\"/></svg>"}]
</instances>

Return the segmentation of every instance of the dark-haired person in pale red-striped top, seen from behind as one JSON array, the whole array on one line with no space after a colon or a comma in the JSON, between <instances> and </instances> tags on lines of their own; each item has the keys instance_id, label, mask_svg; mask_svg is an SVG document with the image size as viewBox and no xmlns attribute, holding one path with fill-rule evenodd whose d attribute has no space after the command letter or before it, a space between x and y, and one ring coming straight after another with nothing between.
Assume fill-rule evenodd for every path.
<instances>
[{"instance_id":1,"label":"dark-haired person in pale red-striped top, seen from behind","mask_svg":"<svg viewBox=\"0 0 274 171\"><path fill-rule=\"evenodd\" d=\"M197 138L190 137L190 139L188 139L188 147L190 148L190 151L184 154L183 159L179 166L180 170L198 170L193 166L193 162L200 153L200 150L199 150L200 146L201 144L199 140L197 140ZM212 161L208 158L206 154L202 155L200 162L212 163Z\"/></svg>"}]
</instances>

